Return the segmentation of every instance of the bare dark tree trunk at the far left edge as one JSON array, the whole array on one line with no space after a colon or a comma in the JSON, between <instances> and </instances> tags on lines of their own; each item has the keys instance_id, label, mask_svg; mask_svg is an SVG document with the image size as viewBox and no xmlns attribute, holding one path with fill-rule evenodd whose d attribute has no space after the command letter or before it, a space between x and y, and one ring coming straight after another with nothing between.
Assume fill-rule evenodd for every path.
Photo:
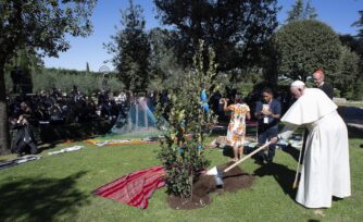
<instances>
[{"instance_id":1,"label":"bare dark tree trunk at the far left edge","mask_svg":"<svg viewBox=\"0 0 363 222\"><path fill-rule=\"evenodd\" d=\"M0 155L10 153L4 62L0 62Z\"/></svg>"}]
</instances>

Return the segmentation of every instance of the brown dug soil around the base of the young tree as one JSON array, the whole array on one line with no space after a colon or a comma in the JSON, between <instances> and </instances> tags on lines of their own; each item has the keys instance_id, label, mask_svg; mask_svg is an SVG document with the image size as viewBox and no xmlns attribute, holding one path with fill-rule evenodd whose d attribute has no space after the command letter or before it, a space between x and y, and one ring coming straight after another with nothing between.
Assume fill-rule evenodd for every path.
<instances>
[{"instance_id":1,"label":"brown dug soil around the base of the young tree","mask_svg":"<svg viewBox=\"0 0 363 222\"><path fill-rule=\"evenodd\" d=\"M218 165L218 171L223 172L233 162L224 165ZM191 210L205 207L212 202L210 193L217 192L236 192L242 188L251 187L254 181L254 176L245 173L239 166L236 166L223 173L223 187L217 187L213 175L200 175L192 185L192 196L190 198L180 198L175 196L168 196L167 202L173 209Z\"/></svg>"}]
</instances>

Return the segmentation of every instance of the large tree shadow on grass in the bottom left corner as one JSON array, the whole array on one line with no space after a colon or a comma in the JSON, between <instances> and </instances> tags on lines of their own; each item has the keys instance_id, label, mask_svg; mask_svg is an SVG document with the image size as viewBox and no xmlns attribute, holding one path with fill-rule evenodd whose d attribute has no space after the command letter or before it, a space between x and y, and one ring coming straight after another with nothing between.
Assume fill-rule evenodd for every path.
<instances>
[{"instance_id":1,"label":"large tree shadow on grass in the bottom left corner","mask_svg":"<svg viewBox=\"0 0 363 222\"><path fill-rule=\"evenodd\" d=\"M85 175L82 171L65 178L22 177L0 185L2 221L53 221L62 215L76 215L77 208L88 202L88 195L76 188Z\"/></svg>"}]
</instances>

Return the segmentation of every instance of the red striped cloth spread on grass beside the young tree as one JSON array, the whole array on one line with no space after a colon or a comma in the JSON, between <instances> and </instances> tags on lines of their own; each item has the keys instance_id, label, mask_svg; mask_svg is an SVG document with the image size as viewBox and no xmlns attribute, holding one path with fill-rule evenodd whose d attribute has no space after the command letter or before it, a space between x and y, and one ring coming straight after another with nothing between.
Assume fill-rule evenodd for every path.
<instances>
[{"instance_id":1,"label":"red striped cloth spread on grass beside the young tree","mask_svg":"<svg viewBox=\"0 0 363 222\"><path fill-rule=\"evenodd\" d=\"M152 193L165 185L164 175L165 171L161 165L148 168L105 184L93 194L146 209Z\"/></svg>"}]
</instances>

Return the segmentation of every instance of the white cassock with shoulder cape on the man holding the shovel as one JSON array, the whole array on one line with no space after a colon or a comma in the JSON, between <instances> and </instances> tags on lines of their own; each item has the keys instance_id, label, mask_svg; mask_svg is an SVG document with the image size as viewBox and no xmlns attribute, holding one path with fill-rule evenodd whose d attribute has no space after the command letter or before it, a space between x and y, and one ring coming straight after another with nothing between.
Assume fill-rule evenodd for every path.
<instances>
[{"instance_id":1,"label":"white cassock with shoulder cape on the man holding the shovel","mask_svg":"<svg viewBox=\"0 0 363 222\"><path fill-rule=\"evenodd\" d=\"M306 88L281 121L285 139L299 125L309 130L296 200L306 208L329 208L331 196L350 196L348 131L337 106L321 89Z\"/></svg>"}]
</instances>

